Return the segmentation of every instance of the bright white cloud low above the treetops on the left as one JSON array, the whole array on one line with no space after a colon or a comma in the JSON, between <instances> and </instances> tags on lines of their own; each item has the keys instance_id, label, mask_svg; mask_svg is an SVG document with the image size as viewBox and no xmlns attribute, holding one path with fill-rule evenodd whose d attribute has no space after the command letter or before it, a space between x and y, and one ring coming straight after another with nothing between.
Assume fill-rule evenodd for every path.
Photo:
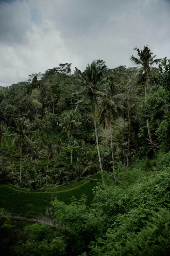
<instances>
[{"instance_id":1,"label":"bright white cloud low above the treetops on the left","mask_svg":"<svg viewBox=\"0 0 170 256\"><path fill-rule=\"evenodd\" d=\"M17 5L13 7L17 8ZM24 44L3 42L0 45L0 86L26 80L31 73L43 73L58 63L76 59L76 55L70 56L59 31L49 20L43 20L39 25L31 23L24 36Z\"/></svg>"}]
</instances>

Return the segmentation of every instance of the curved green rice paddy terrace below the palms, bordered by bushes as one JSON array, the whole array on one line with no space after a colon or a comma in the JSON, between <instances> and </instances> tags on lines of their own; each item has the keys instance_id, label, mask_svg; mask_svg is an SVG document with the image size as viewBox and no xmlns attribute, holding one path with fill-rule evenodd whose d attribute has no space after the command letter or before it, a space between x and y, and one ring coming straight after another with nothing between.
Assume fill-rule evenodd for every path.
<instances>
[{"instance_id":1,"label":"curved green rice paddy terrace below the palms, bordered by bushes","mask_svg":"<svg viewBox=\"0 0 170 256\"><path fill-rule=\"evenodd\" d=\"M14 185L0 185L0 208L5 208L11 216L24 217L42 221L50 225L55 224L55 216L51 201L58 199L69 204L70 198L75 196L78 200L85 194L90 204L93 194L92 189L97 186L97 181L88 180L70 182L51 189L26 191Z\"/></svg>"}]
</instances>

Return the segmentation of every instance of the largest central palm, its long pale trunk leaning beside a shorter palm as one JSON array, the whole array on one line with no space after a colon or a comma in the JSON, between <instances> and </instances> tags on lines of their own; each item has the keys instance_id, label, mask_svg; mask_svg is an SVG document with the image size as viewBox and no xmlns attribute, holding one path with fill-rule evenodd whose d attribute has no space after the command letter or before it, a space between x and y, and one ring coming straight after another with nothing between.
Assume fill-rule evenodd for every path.
<instances>
[{"instance_id":1,"label":"largest central palm, its long pale trunk leaning beside a shorter palm","mask_svg":"<svg viewBox=\"0 0 170 256\"><path fill-rule=\"evenodd\" d=\"M76 67L75 67L76 68ZM90 103L90 109L92 118L94 120L94 129L96 136L97 151L100 163L100 170L103 178L102 162L100 157L99 142L97 136L96 118L99 114L99 106L97 102L98 96L106 95L106 88L109 84L107 83L108 77L103 77L103 73L106 70L106 65L99 67L96 65L94 60L91 65L88 64L86 70L82 73L78 68L76 68L76 83L77 85L72 85L70 88L77 89L79 91L75 92L73 95L83 95L80 100L78 100L77 107L82 104Z\"/></svg>"}]
</instances>

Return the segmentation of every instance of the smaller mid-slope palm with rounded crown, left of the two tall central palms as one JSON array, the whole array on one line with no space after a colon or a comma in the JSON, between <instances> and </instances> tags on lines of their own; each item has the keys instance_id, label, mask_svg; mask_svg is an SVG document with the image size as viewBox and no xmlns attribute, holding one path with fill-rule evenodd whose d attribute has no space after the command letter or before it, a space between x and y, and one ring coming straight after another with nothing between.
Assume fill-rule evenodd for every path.
<instances>
[{"instance_id":1,"label":"smaller mid-slope palm with rounded crown, left of the two tall central palms","mask_svg":"<svg viewBox=\"0 0 170 256\"><path fill-rule=\"evenodd\" d=\"M68 138L71 136L71 164L73 160L73 130L78 128L82 123L78 122L81 118L81 115L74 110L70 110L64 113L64 117L61 119L63 127L61 133L67 131Z\"/></svg>"}]
</instances>

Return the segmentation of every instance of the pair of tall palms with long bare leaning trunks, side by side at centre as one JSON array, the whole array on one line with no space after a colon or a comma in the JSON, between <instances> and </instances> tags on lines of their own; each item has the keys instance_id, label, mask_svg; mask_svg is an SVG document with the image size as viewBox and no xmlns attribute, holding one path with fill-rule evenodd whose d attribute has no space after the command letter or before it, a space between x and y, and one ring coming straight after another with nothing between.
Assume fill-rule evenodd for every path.
<instances>
[{"instance_id":1,"label":"pair of tall palms with long bare leaning trunks, side by side at centre","mask_svg":"<svg viewBox=\"0 0 170 256\"><path fill-rule=\"evenodd\" d=\"M102 123L103 128L110 127L110 140L111 140L111 152L112 152L112 164L114 173L114 153L112 144L112 120L117 117L117 113L124 107L121 102L124 100L123 94L115 95L112 86L113 79L111 76L104 77L106 71L106 65L98 67L96 61L93 61L91 65L88 65L84 72L81 72L76 68L76 83L71 85L71 89L77 91L73 95L81 96L77 102L76 110L83 104L90 105L91 116L94 122L96 145L98 151L98 158L100 164L100 170L102 179L104 182L103 168L101 161L101 154L99 149L99 141L97 134L96 120ZM116 176L114 175L115 181Z\"/></svg>"}]
</instances>

